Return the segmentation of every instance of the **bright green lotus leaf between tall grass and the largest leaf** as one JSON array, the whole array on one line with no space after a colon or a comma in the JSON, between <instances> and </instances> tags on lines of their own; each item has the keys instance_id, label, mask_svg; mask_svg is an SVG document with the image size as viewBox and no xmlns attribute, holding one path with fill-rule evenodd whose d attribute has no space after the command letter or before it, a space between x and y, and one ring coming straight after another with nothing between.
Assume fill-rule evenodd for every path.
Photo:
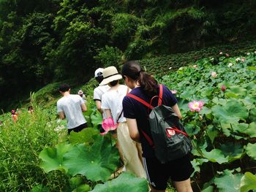
<instances>
[{"instance_id":1,"label":"bright green lotus leaf between tall grass and the largest leaf","mask_svg":"<svg viewBox=\"0 0 256 192\"><path fill-rule=\"evenodd\" d=\"M39 158L42 159L41 167L45 172L53 170L65 170L67 168L63 165L64 155L72 148L71 145L59 144L56 147L46 147L39 153Z\"/></svg>"}]
</instances>

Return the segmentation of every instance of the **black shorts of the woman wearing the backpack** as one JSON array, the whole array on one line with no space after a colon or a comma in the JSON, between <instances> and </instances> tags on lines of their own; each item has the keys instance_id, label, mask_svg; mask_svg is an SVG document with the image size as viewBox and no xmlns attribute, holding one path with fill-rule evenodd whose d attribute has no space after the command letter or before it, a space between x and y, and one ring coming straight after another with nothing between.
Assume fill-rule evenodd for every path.
<instances>
[{"instance_id":1,"label":"black shorts of the woman wearing the backpack","mask_svg":"<svg viewBox=\"0 0 256 192\"><path fill-rule=\"evenodd\" d=\"M143 166L148 183L157 190L165 190L169 178L173 181L184 181L194 172L189 155L166 164L161 164L157 158L143 158Z\"/></svg>"}]
</instances>

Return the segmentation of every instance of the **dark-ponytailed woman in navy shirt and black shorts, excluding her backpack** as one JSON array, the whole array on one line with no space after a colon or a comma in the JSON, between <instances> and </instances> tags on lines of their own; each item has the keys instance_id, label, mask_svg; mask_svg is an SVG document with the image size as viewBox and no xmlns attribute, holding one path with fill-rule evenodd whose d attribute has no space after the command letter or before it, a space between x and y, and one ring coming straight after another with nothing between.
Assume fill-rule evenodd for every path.
<instances>
[{"instance_id":1,"label":"dark-ponytailed woman in navy shirt and black shorts, excluding her backpack","mask_svg":"<svg viewBox=\"0 0 256 192\"><path fill-rule=\"evenodd\" d=\"M146 101L151 106L158 105L159 85L151 75L143 72L137 61L128 61L121 70L126 85L132 89L129 94ZM170 90L162 85L162 103L171 107L178 118L181 112L178 108L177 99ZM124 117L127 118L130 137L135 142L141 142L143 150L143 166L146 170L148 183L152 192L162 192L167 188L167 180L170 178L178 192L191 192L190 175L194 171L189 161L189 154L181 158L162 164L154 152L154 147L148 142L153 140L148 121L150 108L130 96L123 100ZM149 138L148 138L149 137Z\"/></svg>"}]
</instances>

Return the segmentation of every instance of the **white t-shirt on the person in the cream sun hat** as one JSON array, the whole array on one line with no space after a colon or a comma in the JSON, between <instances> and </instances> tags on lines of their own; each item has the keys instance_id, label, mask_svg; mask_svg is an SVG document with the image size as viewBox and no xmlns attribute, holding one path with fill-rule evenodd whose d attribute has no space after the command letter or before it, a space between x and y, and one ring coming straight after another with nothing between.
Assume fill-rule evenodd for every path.
<instances>
[{"instance_id":1,"label":"white t-shirt on the person in the cream sun hat","mask_svg":"<svg viewBox=\"0 0 256 192\"><path fill-rule=\"evenodd\" d=\"M102 109L111 111L112 118L115 123L123 110L122 101L124 99L124 96L126 95L126 85L119 85L116 90L109 90L102 95ZM124 112L122 112L122 115L119 118L118 122L125 121L126 118L124 118Z\"/></svg>"}]
</instances>

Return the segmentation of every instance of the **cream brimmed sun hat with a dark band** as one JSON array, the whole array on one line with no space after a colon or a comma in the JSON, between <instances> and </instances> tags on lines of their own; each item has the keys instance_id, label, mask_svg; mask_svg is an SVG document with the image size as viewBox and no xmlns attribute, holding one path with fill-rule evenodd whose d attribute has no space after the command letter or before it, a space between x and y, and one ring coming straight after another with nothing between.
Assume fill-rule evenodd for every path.
<instances>
[{"instance_id":1,"label":"cream brimmed sun hat with a dark band","mask_svg":"<svg viewBox=\"0 0 256 192\"><path fill-rule=\"evenodd\" d=\"M104 80L100 82L99 85L107 85L108 82L112 82L113 80L121 80L121 74L118 74L118 71L115 66L109 66L103 70Z\"/></svg>"}]
</instances>

